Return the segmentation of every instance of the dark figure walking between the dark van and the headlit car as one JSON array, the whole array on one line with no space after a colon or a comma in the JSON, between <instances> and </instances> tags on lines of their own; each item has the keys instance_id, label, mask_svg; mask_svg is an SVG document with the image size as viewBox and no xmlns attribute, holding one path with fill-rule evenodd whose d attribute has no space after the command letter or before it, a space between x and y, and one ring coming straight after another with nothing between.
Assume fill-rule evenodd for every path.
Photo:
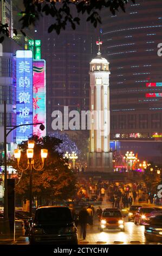
<instances>
[{"instance_id":1,"label":"dark figure walking between the dark van and the headlit car","mask_svg":"<svg viewBox=\"0 0 162 256\"><path fill-rule=\"evenodd\" d=\"M86 239L88 218L89 214L87 212L87 209L83 207L79 212L79 223L81 225L81 236L83 237L83 240Z\"/></svg>"}]
</instances>

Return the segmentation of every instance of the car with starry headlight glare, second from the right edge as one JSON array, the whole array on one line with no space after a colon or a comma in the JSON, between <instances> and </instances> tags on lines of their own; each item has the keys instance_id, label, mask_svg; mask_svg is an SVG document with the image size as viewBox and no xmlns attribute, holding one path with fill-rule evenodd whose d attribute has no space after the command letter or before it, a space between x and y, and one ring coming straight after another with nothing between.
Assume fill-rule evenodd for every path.
<instances>
[{"instance_id":1,"label":"car with starry headlight glare, second from the right edge","mask_svg":"<svg viewBox=\"0 0 162 256\"><path fill-rule=\"evenodd\" d=\"M134 224L145 225L153 211L155 211L153 207L140 207L134 215Z\"/></svg>"}]
</instances>

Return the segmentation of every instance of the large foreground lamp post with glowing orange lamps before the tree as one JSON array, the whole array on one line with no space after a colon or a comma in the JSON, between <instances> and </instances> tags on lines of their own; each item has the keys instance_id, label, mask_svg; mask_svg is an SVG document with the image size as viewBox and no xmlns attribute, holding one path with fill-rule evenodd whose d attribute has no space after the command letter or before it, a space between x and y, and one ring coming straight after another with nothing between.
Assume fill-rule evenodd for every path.
<instances>
[{"instance_id":1,"label":"large foreground lamp post with glowing orange lamps before the tree","mask_svg":"<svg viewBox=\"0 0 162 256\"><path fill-rule=\"evenodd\" d=\"M28 157L28 163L27 163L27 168L23 169L20 166L20 158L21 158L21 150L20 149L15 149L14 150L14 155L15 158L17 159L17 166L18 169L25 171L27 169L30 170L30 199L29 199L29 212L30 216L32 214L32 170L42 170L44 167L44 160L47 158L48 155L48 150L47 149L41 149L41 158L42 158L42 166L40 168L35 168L34 166L34 159L33 159L33 154L34 154L34 141L28 141L28 149L27 149L27 157Z\"/></svg>"}]
</instances>

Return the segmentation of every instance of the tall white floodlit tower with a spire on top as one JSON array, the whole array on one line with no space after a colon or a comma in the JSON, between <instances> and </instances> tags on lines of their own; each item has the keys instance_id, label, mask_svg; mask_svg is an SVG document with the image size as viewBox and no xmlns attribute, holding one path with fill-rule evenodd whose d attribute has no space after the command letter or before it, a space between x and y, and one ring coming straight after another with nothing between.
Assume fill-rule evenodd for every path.
<instances>
[{"instance_id":1,"label":"tall white floodlit tower with a spire on top","mask_svg":"<svg viewBox=\"0 0 162 256\"><path fill-rule=\"evenodd\" d=\"M90 139L88 171L113 172L113 156L109 151L109 62L101 56L100 45L97 56L90 62Z\"/></svg>"}]
</instances>

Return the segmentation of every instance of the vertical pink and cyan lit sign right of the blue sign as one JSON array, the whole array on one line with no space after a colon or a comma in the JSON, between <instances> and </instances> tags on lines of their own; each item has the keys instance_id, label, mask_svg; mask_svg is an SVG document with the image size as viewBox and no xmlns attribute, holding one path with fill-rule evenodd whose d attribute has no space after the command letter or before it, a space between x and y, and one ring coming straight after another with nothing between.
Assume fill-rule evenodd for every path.
<instances>
[{"instance_id":1,"label":"vertical pink and cyan lit sign right of the blue sign","mask_svg":"<svg viewBox=\"0 0 162 256\"><path fill-rule=\"evenodd\" d=\"M33 123L42 123L46 127L46 62L33 61ZM33 126L33 134L46 136L46 129L41 131L38 125Z\"/></svg>"}]
</instances>

